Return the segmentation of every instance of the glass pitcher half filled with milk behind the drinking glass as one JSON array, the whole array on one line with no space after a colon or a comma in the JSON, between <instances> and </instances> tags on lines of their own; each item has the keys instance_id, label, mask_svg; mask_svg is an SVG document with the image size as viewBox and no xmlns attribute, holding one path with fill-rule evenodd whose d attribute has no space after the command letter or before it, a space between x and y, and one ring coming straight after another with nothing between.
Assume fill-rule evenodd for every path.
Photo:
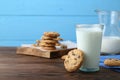
<instances>
[{"instance_id":1,"label":"glass pitcher half filled with milk behind the drinking glass","mask_svg":"<svg viewBox=\"0 0 120 80\"><path fill-rule=\"evenodd\" d=\"M101 52L120 53L120 11L96 10L99 23L104 25Z\"/></svg>"}]
</instances>

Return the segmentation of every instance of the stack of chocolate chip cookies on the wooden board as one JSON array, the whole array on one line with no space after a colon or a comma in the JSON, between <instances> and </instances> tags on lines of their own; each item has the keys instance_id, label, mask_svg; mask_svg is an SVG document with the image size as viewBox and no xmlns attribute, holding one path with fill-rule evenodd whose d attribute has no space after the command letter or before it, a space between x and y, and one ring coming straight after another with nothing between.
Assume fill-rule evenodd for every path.
<instances>
[{"instance_id":1,"label":"stack of chocolate chip cookies on the wooden board","mask_svg":"<svg viewBox=\"0 0 120 80\"><path fill-rule=\"evenodd\" d=\"M45 50L55 50L56 46L60 46L59 41L62 40L57 32L44 32L41 40L36 41L36 46Z\"/></svg>"}]
</instances>

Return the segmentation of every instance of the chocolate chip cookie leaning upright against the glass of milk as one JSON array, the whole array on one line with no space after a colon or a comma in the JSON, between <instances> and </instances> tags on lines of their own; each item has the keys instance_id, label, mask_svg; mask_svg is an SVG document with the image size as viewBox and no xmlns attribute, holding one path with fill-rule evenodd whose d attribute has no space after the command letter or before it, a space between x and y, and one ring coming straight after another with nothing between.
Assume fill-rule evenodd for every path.
<instances>
[{"instance_id":1,"label":"chocolate chip cookie leaning upright against the glass of milk","mask_svg":"<svg viewBox=\"0 0 120 80\"><path fill-rule=\"evenodd\" d=\"M83 58L84 58L84 55L81 50L74 49L74 50L69 51L68 55L66 56L64 60L65 69L68 72L76 71L78 68L81 67L83 63Z\"/></svg>"}]
</instances>

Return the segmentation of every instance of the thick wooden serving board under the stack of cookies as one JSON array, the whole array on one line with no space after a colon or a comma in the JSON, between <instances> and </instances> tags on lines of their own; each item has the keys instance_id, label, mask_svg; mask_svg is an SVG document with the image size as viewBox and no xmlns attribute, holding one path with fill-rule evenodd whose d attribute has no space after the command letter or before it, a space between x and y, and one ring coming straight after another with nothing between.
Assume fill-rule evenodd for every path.
<instances>
[{"instance_id":1,"label":"thick wooden serving board under the stack of cookies","mask_svg":"<svg viewBox=\"0 0 120 80\"><path fill-rule=\"evenodd\" d=\"M32 55L37 57L44 57L44 58L58 58L67 54L72 49L74 48L59 49L59 50L42 50L32 47L19 47L16 53L24 54L24 55Z\"/></svg>"}]
</instances>

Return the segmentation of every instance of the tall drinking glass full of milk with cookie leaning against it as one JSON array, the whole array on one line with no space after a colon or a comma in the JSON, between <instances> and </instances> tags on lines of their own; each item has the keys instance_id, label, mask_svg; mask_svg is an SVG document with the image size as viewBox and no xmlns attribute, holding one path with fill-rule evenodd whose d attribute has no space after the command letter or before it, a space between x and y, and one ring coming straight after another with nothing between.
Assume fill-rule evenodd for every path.
<instances>
[{"instance_id":1,"label":"tall drinking glass full of milk with cookie leaning against it","mask_svg":"<svg viewBox=\"0 0 120 80\"><path fill-rule=\"evenodd\" d=\"M103 25L76 25L77 48L84 52L84 61L80 67L84 72L99 71Z\"/></svg>"}]
</instances>

